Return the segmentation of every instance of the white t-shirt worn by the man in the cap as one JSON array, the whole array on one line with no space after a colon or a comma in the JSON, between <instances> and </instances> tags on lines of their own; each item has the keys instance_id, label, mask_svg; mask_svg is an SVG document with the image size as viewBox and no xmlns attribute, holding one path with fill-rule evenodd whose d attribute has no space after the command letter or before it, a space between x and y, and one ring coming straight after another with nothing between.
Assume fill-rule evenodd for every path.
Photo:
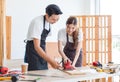
<instances>
[{"instance_id":1,"label":"white t-shirt worn by the man in the cap","mask_svg":"<svg viewBox=\"0 0 120 82\"><path fill-rule=\"evenodd\" d=\"M41 39L41 34L43 31L43 18L44 16L38 16L36 18L34 18L30 25L29 25L29 29L28 29L28 33L27 33L27 40L33 40L33 38L37 38L37 39ZM51 26L49 27L49 23L47 21L45 21L45 29L49 30L49 28L51 29ZM49 32L48 35L51 35L51 31Z\"/></svg>"}]
</instances>

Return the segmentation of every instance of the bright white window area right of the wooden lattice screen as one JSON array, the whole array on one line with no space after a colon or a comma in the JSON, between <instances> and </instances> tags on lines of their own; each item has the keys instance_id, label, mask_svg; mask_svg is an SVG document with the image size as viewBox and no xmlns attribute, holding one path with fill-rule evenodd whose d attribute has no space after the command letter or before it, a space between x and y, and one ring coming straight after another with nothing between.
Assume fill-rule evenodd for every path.
<instances>
[{"instance_id":1,"label":"bright white window area right of the wooden lattice screen","mask_svg":"<svg viewBox=\"0 0 120 82\"><path fill-rule=\"evenodd\" d=\"M119 0L100 0L101 14L112 15L112 62L120 62L120 4ZM115 81L116 82L116 81Z\"/></svg>"}]
</instances>

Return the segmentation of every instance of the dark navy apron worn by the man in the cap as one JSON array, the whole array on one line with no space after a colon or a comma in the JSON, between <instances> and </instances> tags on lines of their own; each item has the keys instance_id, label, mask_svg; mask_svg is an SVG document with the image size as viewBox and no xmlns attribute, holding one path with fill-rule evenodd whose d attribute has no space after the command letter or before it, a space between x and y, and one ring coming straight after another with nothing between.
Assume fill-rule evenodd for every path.
<instances>
[{"instance_id":1,"label":"dark navy apron worn by the man in the cap","mask_svg":"<svg viewBox=\"0 0 120 82\"><path fill-rule=\"evenodd\" d=\"M50 25L49 25L49 30L45 29L45 16L43 19L43 31L41 34L41 40L40 40L40 47L45 51L45 46L46 46L46 37L48 33L50 32ZM47 61L45 61L38 53L36 52L34 48L33 41L27 41L26 45L26 61L28 62L28 71L31 70L45 70L48 69L48 64Z\"/></svg>"}]
</instances>

